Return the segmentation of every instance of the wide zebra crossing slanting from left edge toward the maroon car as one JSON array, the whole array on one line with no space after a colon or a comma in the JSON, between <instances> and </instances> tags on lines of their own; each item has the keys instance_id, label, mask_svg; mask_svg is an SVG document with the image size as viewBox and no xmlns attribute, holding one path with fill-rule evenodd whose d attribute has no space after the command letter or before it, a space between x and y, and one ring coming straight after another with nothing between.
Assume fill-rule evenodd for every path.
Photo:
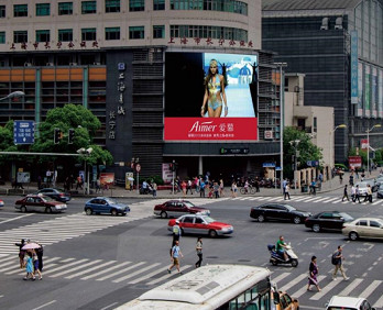
<instances>
[{"instance_id":1,"label":"wide zebra crossing slanting from left edge toward the maroon car","mask_svg":"<svg viewBox=\"0 0 383 310\"><path fill-rule=\"evenodd\" d=\"M0 256L17 254L19 248L14 245L21 239L39 241L44 246L65 240L84 236L111 226L129 223L153 215L154 204L163 203L168 199L145 200L130 204L127 217L86 215L85 212L51 218L50 220L29 225L0 231ZM216 202L212 199L194 199L196 204Z\"/></svg>"}]
</instances>

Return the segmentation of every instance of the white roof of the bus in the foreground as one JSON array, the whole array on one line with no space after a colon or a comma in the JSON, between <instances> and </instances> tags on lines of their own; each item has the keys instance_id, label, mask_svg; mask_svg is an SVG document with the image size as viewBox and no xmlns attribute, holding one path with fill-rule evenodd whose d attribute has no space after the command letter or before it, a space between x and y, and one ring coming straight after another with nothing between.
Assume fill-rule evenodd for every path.
<instances>
[{"instance_id":1,"label":"white roof of the bus in the foreground","mask_svg":"<svg viewBox=\"0 0 383 310\"><path fill-rule=\"evenodd\" d=\"M138 299L201 305L230 288L230 298L270 276L269 269L245 265L207 265L163 284Z\"/></svg>"}]
</instances>

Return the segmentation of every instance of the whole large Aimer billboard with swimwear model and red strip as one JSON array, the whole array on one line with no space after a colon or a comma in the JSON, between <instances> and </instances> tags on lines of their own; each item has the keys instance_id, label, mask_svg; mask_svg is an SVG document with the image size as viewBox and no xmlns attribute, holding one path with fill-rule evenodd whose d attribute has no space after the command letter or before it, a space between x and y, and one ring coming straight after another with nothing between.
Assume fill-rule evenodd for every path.
<instances>
[{"instance_id":1,"label":"whole large Aimer billboard with swimwear model and red strip","mask_svg":"<svg viewBox=\"0 0 383 310\"><path fill-rule=\"evenodd\" d=\"M256 141L256 55L166 53L165 141Z\"/></svg>"}]
</instances>

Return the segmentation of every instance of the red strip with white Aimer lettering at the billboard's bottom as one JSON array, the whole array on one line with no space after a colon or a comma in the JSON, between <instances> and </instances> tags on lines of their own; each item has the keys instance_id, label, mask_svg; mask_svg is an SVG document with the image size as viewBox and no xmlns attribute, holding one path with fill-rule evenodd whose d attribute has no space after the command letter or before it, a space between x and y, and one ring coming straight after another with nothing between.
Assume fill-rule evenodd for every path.
<instances>
[{"instance_id":1,"label":"red strip with white Aimer lettering at the billboard's bottom","mask_svg":"<svg viewBox=\"0 0 383 310\"><path fill-rule=\"evenodd\" d=\"M258 141L256 118L165 118L165 141Z\"/></svg>"}]
</instances>

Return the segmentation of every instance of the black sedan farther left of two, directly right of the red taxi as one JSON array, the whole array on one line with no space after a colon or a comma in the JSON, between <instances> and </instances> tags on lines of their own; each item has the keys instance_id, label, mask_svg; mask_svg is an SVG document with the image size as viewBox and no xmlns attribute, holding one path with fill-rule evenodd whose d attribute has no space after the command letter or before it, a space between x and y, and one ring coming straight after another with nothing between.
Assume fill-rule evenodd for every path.
<instances>
[{"instance_id":1,"label":"black sedan farther left of two, directly right of the red taxi","mask_svg":"<svg viewBox=\"0 0 383 310\"><path fill-rule=\"evenodd\" d=\"M285 203L265 203L251 208L250 218L256 219L259 222L266 220L285 220L295 224L304 222L310 212L300 211Z\"/></svg>"}]
</instances>

